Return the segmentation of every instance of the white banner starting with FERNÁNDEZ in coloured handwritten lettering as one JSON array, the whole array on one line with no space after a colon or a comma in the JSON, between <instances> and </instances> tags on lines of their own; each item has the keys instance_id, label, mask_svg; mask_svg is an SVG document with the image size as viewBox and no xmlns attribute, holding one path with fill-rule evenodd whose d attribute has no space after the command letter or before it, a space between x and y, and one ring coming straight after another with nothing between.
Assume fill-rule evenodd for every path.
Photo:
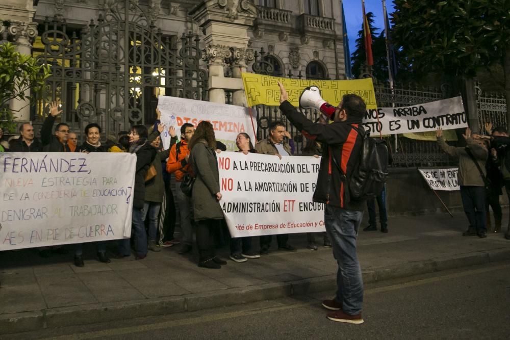
<instances>
[{"instance_id":1,"label":"white banner starting with FERN\u00c1NDEZ in coloured handwritten lettering","mask_svg":"<svg viewBox=\"0 0 510 340\"><path fill-rule=\"evenodd\" d=\"M129 237L135 169L130 153L0 152L0 250Z\"/></svg>"}]
</instances>

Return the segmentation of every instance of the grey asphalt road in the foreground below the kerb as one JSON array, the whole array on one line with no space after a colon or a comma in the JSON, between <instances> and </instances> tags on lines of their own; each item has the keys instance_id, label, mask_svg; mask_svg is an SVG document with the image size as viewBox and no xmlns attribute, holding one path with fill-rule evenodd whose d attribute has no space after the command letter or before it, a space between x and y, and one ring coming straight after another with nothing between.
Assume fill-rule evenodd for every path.
<instances>
[{"instance_id":1,"label":"grey asphalt road in the foreground below the kerb","mask_svg":"<svg viewBox=\"0 0 510 340\"><path fill-rule=\"evenodd\" d=\"M508 339L510 261L365 286L362 325L329 321L330 292L6 339Z\"/></svg>"}]
</instances>

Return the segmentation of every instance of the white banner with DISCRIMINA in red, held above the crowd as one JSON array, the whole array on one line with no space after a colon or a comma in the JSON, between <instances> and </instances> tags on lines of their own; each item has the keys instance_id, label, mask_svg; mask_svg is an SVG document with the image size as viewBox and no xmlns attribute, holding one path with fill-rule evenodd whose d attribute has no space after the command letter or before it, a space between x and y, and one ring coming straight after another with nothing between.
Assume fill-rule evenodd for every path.
<instances>
[{"instance_id":1,"label":"white banner with DISCRIMINA in red, held above the crowd","mask_svg":"<svg viewBox=\"0 0 510 340\"><path fill-rule=\"evenodd\" d=\"M158 109L161 111L161 122L167 127L175 126L177 137L181 135L180 127L191 123L195 127L202 120L213 124L216 140L226 145L230 151L237 150L236 137L240 132L247 133L255 144L257 131L257 113L253 109L250 118L248 108L219 104L210 101L193 100L169 96L158 97ZM163 146L170 146L168 131L161 135Z\"/></svg>"}]
</instances>

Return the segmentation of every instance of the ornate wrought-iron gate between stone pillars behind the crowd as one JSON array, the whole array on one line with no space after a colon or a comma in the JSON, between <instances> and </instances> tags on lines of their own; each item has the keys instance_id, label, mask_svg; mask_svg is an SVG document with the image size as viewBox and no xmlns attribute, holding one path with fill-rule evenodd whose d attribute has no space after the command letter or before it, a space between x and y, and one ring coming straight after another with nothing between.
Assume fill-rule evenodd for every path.
<instances>
[{"instance_id":1,"label":"ornate wrought-iron gate between stone pillars behind the crowd","mask_svg":"<svg viewBox=\"0 0 510 340\"><path fill-rule=\"evenodd\" d=\"M36 119L48 101L60 100L73 131L96 122L106 134L152 123L157 96L207 99L207 71L200 68L198 36L163 35L132 0L118 0L81 30L47 18L34 56L52 76L38 98Z\"/></svg>"}]
</instances>

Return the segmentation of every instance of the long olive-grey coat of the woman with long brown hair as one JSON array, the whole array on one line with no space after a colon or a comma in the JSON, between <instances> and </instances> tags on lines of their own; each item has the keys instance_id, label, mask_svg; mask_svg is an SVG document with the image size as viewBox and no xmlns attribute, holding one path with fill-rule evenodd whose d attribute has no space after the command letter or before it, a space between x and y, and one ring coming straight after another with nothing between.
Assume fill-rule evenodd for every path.
<instances>
[{"instance_id":1,"label":"long olive-grey coat of the woman with long brown hair","mask_svg":"<svg viewBox=\"0 0 510 340\"><path fill-rule=\"evenodd\" d=\"M216 151L205 141L200 141L191 149L190 164L196 177L191 194L195 221L223 219L223 211L216 199L216 193L220 191Z\"/></svg>"}]
</instances>

